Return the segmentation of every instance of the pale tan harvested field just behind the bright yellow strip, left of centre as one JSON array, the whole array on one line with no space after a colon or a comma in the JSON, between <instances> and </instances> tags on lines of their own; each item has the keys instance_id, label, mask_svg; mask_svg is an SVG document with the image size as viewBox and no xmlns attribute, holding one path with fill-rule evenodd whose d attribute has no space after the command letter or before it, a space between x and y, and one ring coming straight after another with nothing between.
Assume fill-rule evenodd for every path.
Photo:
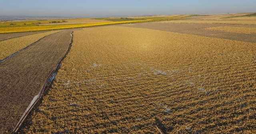
<instances>
[{"instance_id":1,"label":"pale tan harvested field just behind the bright yellow strip, left of centre","mask_svg":"<svg viewBox=\"0 0 256 134\"><path fill-rule=\"evenodd\" d=\"M62 23L46 23L46 24L39 24L39 25L85 24L85 23L98 23L98 22L111 22L111 21L96 20L96 19L84 19L84 20L68 20L67 22L62 22Z\"/></svg>"}]
</instances>

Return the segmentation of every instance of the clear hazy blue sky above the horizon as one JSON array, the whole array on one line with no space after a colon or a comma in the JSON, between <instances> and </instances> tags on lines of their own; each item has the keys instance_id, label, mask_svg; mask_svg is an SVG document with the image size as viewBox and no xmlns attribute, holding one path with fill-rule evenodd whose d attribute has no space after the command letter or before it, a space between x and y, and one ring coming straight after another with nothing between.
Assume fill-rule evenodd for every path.
<instances>
[{"instance_id":1,"label":"clear hazy blue sky above the horizon","mask_svg":"<svg viewBox=\"0 0 256 134\"><path fill-rule=\"evenodd\" d=\"M256 12L256 0L0 0L0 16L111 17Z\"/></svg>"}]
</instances>

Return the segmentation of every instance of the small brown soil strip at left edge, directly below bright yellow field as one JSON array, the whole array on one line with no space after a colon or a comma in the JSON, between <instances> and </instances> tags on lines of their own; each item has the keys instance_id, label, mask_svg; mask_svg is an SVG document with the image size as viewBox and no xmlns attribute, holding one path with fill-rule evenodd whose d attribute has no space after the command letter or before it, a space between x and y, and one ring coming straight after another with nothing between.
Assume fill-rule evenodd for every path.
<instances>
[{"instance_id":1,"label":"small brown soil strip at left edge, directly below bright yellow field","mask_svg":"<svg viewBox=\"0 0 256 134\"><path fill-rule=\"evenodd\" d=\"M31 35L31 34L39 34L39 33L42 33L42 32L47 32L47 31L0 34L0 41L8 40L10 38L17 38L17 37L21 37L21 36L27 36L27 35Z\"/></svg>"}]
</instances>

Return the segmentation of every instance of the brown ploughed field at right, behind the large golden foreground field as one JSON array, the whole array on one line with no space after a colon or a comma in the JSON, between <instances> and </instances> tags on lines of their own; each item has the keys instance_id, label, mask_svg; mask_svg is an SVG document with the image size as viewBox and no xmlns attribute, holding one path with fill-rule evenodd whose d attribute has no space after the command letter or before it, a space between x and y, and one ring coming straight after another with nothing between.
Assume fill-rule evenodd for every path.
<instances>
[{"instance_id":1,"label":"brown ploughed field at right, behind the large golden foreground field","mask_svg":"<svg viewBox=\"0 0 256 134\"><path fill-rule=\"evenodd\" d=\"M193 34L193 35L199 35L199 36L207 36L207 37L213 37L213 38L223 38L228 40L238 40L238 41L256 43L255 34L203 30L203 28L211 28L211 27L218 27L218 26L236 26L236 27L254 27L255 28L256 25L146 22L146 23L136 23L131 25L118 25L118 26L148 28L148 29L154 29L154 30L163 30L163 31L178 32L183 34Z\"/></svg>"}]
</instances>

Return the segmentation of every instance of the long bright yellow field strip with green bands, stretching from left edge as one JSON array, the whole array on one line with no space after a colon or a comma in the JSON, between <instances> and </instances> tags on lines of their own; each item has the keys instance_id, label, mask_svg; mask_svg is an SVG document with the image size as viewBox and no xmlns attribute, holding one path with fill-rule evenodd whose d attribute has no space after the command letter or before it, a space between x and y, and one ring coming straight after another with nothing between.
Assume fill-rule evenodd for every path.
<instances>
[{"instance_id":1,"label":"long bright yellow field strip with green bands, stretching from left edge","mask_svg":"<svg viewBox=\"0 0 256 134\"><path fill-rule=\"evenodd\" d=\"M163 20L177 20L184 19L190 15L176 15L167 17L140 17L136 19L126 20L120 18L102 18L102 19L69 19L65 20L68 22L50 23L52 20L44 21L26 21L26 22L4 22L0 23L0 34L2 33L13 33L13 32L29 32L29 31L42 31L42 30L58 30L66 28L82 28L90 26L102 26L110 24L124 24L124 23L139 23L139 22L152 22L152 21L163 21ZM114 21L108 21L114 20ZM126 21L124 21L126 20ZM61 21L61 20L60 20ZM40 23L40 24L38 24ZM76 24L73 24L76 23ZM83 23L83 24L80 24ZM10 25L13 24L13 25ZM26 25L24 25L26 24Z\"/></svg>"}]
</instances>

